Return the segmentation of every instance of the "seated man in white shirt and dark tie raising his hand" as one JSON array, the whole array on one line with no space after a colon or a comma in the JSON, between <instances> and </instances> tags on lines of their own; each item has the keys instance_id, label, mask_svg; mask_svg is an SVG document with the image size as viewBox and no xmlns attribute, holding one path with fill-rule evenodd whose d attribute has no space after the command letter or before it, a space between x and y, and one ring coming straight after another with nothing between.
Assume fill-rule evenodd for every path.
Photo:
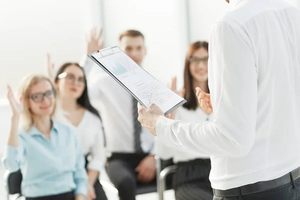
<instances>
[{"instance_id":1,"label":"seated man in white shirt and dark tie raising his hand","mask_svg":"<svg viewBox=\"0 0 300 200\"><path fill-rule=\"evenodd\" d=\"M102 48L98 41L99 36L93 30L88 53ZM121 33L119 47L138 65L142 64L146 49L141 32ZM83 63L86 73L94 64L86 58ZM99 66L88 78L88 90L101 113L106 137L106 172L121 200L135 199L137 183L155 181L154 136L137 120L137 101Z\"/></svg>"}]
</instances>

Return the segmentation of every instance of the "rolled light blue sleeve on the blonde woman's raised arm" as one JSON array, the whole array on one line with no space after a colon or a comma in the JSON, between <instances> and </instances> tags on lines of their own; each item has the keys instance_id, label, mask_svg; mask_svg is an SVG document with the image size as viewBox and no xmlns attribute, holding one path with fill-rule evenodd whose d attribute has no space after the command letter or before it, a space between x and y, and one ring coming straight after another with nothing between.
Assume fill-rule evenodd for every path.
<instances>
[{"instance_id":1,"label":"rolled light blue sleeve on the blonde woman's raised arm","mask_svg":"<svg viewBox=\"0 0 300 200\"><path fill-rule=\"evenodd\" d=\"M20 168L19 151L22 147L7 145L2 157L4 167L10 171L17 171Z\"/></svg>"}]
</instances>

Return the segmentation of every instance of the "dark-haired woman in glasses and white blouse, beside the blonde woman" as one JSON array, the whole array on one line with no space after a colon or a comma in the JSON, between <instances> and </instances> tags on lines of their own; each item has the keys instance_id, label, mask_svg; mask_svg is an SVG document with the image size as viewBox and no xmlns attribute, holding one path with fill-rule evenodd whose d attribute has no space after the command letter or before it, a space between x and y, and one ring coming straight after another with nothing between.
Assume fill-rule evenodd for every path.
<instances>
[{"instance_id":1,"label":"dark-haired woman in glasses and white blouse, beside the blonde woman","mask_svg":"<svg viewBox=\"0 0 300 200\"><path fill-rule=\"evenodd\" d=\"M47 57L49 75L53 73L53 64ZM99 182L99 173L104 168L104 135L98 111L90 104L86 77L77 63L64 63L53 78L62 114L77 130L83 155L86 158L86 170L89 189L87 199L105 200L106 195Z\"/></svg>"}]
</instances>

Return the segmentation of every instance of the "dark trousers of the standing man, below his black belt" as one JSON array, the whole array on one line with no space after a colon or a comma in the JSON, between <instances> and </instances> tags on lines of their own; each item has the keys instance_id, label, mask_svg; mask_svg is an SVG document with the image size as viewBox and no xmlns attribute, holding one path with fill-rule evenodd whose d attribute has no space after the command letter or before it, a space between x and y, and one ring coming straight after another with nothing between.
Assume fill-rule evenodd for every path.
<instances>
[{"instance_id":1,"label":"dark trousers of the standing man, below his black belt","mask_svg":"<svg viewBox=\"0 0 300 200\"><path fill-rule=\"evenodd\" d=\"M240 192L239 192L240 193ZM214 196L213 200L296 200L300 199L300 178L289 183L259 193L221 197Z\"/></svg>"}]
</instances>

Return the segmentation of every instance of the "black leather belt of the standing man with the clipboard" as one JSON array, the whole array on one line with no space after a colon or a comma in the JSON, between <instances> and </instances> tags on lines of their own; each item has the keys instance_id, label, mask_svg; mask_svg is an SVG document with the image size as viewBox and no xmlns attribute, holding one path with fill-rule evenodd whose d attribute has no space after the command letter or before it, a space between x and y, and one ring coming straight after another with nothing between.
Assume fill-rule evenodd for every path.
<instances>
[{"instance_id":1,"label":"black leather belt of the standing man with the clipboard","mask_svg":"<svg viewBox=\"0 0 300 200\"><path fill-rule=\"evenodd\" d=\"M215 196L220 196L220 197L238 196L239 190L241 192L241 195L258 193L261 191L265 191L268 189L272 189L272 188L287 184L287 183L291 182L292 179L295 180L298 177L300 177L300 167L292 170L291 172L289 172L279 178L273 179L273 180L260 181L260 182L256 182L253 184L247 184L247 185L243 185L243 186L235 187L235 188L231 188L231 189L226 189L226 190L213 189L213 194Z\"/></svg>"}]
</instances>

